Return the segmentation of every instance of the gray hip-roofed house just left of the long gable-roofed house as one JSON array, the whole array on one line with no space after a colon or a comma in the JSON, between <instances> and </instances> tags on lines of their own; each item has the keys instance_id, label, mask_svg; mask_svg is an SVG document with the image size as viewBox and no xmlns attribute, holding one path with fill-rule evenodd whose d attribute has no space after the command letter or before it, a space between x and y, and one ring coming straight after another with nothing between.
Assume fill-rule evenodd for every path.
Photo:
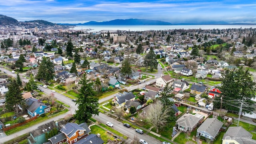
<instances>
[{"instance_id":1,"label":"gray hip-roofed house just left of the long gable-roofed house","mask_svg":"<svg viewBox=\"0 0 256 144\"><path fill-rule=\"evenodd\" d=\"M198 124L204 119L202 114L184 114L178 120L176 120L176 126L178 130L182 130L183 132L191 132L194 130Z\"/></svg>"}]
</instances>

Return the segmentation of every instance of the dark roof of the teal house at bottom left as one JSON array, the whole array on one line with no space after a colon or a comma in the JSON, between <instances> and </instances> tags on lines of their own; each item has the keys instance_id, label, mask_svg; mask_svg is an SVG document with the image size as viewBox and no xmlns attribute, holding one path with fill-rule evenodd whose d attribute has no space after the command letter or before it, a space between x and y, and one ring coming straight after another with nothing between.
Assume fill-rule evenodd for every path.
<instances>
[{"instance_id":1,"label":"dark roof of the teal house at bottom left","mask_svg":"<svg viewBox=\"0 0 256 144\"><path fill-rule=\"evenodd\" d=\"M35 130L32 130L30 133L32 134L33 137L36 137L41 134L44 134L45 132L52 130L53 128L57 128L57 126L54 121L51 121L41 126L38 126L38 128L36 128Z\"/></svg>"}]
</instances>

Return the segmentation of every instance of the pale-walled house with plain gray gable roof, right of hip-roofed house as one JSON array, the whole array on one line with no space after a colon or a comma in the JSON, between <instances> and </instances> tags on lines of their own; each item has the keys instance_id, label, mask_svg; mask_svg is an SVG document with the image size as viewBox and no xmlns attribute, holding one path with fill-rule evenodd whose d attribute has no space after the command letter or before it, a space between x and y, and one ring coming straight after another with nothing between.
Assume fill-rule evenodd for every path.
<instances>
[{"instance_id":1,"label":"pale-walled house with plain gray gable roof, right of hip-roofed house","mask_svg":"<svg viewBox=\"0 0 256 144\"><path fill-rule=\"evenodd\" d=\"M207 118L196 131L196 137L203 136L211 141L216 138L220 132L223 123L217 118Z\"/></svg>"}]
</instances>

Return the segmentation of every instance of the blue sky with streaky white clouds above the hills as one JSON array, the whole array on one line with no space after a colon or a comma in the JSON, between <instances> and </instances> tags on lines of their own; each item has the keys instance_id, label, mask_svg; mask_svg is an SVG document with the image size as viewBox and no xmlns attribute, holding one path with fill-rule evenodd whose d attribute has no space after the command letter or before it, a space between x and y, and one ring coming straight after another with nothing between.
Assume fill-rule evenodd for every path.
<instances>
[{"instance_id":1,"label":"blue sky with streaky white clouds above the hills","mask_svg":"<svg viewBox=\"0 0 256 144\"><path fill-rule=\"evenodd\" d=\"M256 0L1 0L0 14L73 24L129 18L256 23Z\"/></svg>"}]
</instances>

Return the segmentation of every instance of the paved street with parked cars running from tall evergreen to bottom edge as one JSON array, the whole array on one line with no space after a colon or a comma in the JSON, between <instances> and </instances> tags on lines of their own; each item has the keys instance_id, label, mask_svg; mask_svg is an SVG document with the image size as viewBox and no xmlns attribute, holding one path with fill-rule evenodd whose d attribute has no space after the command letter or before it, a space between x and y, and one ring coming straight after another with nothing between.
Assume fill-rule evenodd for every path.
<instances>
[{"instance_id":1,"label":"paved street with parked cars running from tall evergreen to bottom edge","mask_svg":"<svg viewBox=\"0 0 256 144\"><path fill-rule=\"evenodd\" d=\"M134 128L126 128L125 126L123 126L122 122L119 122L114 118L110 118L105 114L100 113L99 116L93 116L93 118L103 124L106 124L106 122L111 122L114 125L112 127L113 129L117 130L118 132L121 132L125 136L128 136L128 140L126 141L126 143L128 144L132 142L132 140L134 139L134 136L137 136L138 139L146 140L148 144L162 144L162 142L160 142L156 138L148 136L147 134L139 134L138 132L135 131Z\"/></svg>"}]
</instances>

